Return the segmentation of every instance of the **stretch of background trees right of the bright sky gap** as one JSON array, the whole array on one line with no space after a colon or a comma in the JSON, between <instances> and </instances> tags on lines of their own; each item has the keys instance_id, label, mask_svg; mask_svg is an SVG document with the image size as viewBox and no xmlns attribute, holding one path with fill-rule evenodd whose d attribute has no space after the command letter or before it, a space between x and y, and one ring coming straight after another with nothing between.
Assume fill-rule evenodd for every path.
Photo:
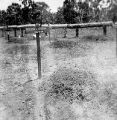
<instances>
[{"instance_id":1,"label":"stretch of background trees right of the bright sky gap","mask_svg":"<svg viewBox=\"0 0 117 120\"><path fill-rule=\"evenodd\" d=\"M56 13L57 23L86 23L117 20L116 0L65 0Z\"/></svg>"}]
</instances>

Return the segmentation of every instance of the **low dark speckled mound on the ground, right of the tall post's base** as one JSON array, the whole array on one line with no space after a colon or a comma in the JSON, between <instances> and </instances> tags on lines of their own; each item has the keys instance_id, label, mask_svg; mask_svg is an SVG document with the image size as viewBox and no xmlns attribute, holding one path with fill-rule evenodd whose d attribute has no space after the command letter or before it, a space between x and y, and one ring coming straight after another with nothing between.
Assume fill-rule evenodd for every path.
<instances>
[{"instance_id":1,"label":"low dark speckled mound on the ground, right of the tall post's base","mask_svg":"<svg viewBox=\"0 0 117 120\"><path fill-rule=\"evenodd\" d=\"M96 95L98 82L95 75L86 70L60 68L49 78L51 87L47 96L55 100L73 102L89 101Z\"/></svg>"}]
</instances>

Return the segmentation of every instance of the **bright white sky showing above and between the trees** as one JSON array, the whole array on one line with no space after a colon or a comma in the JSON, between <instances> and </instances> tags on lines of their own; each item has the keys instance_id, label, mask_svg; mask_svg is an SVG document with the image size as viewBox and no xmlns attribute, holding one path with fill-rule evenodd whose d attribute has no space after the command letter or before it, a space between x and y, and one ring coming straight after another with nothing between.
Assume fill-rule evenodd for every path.
<instances>
[{"instance_id":1,"label":"bright white sky showing above and between the trees","mask_svg":"<svg viewBox=\"0 0 117 120\"><path fill-rule=\"evenodd\" d=\"M34 0L36 2L44 1L46 2L51 12L56 12L58 7L61 7L63 5L64 0ZM0 10L5 10L9 5L12 4L12 2L21 3L19 0L0 0Z\"/></svg>"}]
</instances>

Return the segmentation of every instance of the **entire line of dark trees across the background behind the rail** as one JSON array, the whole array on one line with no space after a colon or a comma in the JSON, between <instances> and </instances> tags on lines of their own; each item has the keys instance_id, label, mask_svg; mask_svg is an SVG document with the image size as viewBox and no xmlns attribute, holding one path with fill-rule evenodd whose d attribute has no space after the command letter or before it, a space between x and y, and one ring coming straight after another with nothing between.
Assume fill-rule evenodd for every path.
<instances>
[{"instance_id":1,"label":"entire line of dark trees across the background behind the rail","mask_svg":"<svg viewBox=\"0 0 117 120\"><path fill-rule=\"evenodd\" d=\"M64 0L56 13L50 11L45 2L20 0L22 4L12 3L6 10L0 10L0 25L21 24L72 24L117 20L116 0ZM102 4L101 4L102 2ZM106 7L103 7L103 4Z\"/></svg>"}]
</instances>

